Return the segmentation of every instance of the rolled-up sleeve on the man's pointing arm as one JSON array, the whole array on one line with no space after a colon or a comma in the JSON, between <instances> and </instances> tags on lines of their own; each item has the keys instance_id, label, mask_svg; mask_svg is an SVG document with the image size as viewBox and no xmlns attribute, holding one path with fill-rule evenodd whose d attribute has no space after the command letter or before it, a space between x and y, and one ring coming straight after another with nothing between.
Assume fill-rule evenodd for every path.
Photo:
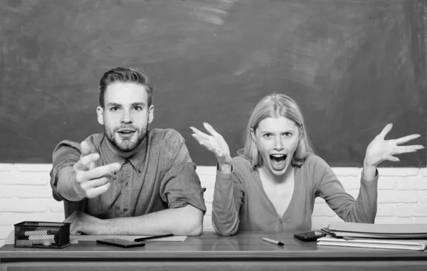
<instances>
[{"instance_id":1,"label":"rolled-up sleeve on the man's pointing arm","mask_svg":"<svg viewBox=\"0 0 427 271\"><path fill-rule=\"evenodd\" d=\"M56 201L63 201L65 198L60 196L57 190L58 173L65 166L74 166L80 159L80 145L75 142L65 140L60 142L53 151L53 167L51 170L51 187L53 198Z\"/></svg>"}]
</instances>

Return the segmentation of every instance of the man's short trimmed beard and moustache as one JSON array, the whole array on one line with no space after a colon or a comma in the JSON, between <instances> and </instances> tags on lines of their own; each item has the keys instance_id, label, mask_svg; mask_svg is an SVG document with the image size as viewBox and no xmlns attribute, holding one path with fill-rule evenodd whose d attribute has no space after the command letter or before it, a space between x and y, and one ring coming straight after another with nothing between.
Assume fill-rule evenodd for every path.
<instances>
[{"instance_id":1,"label":"man's short trimmed beard and moustache","mask_svg":"<svg viewBox=\"0 0 427 271\"><path fill-rule=\"evenodd\" d=\"M147 134L147 125L145 127L142 127L142 131L139 131L139 129L132 127L132 129L135 129L137 138L135 140L132 140L133 137L129 139L122 139L120 142L120 139L116 138L115 135L117 135L117 137L120 137L120 135L118 135L117 130L122 128L124 127L118 127L112 130L104 125L104 132L107 136L108 141L110 141L111 144L120 152L132 152L144 140L145 134Z\"/></svg>"}]
</instances>

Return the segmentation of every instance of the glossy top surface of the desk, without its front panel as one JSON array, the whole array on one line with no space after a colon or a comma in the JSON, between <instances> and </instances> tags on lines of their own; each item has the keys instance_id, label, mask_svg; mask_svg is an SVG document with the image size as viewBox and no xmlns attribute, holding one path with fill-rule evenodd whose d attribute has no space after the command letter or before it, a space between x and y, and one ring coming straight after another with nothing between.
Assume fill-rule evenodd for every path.
<instances>
[{"instance_id":1,"label":"glossy top surface of the desk, without its front panel","mask_svg":"<svg viewBox=\"0 0 427 271\"><path fill-rule=\"evenodd\" d=\"M279 246L262 240L263 237L281 240ZM184 242L147 242L139 248L117 248L95 242L80 242L62 249L14 248L4 245L0 249L0 259L60 257L60 258L413 258L427 260L427 250L382 250L374 248L343 248L317 245L316 242L302 242L289 233L240 233L231 237L221 237L213 232L205 232L198 237L189 236Z\"/></svg>"}]
</instances>

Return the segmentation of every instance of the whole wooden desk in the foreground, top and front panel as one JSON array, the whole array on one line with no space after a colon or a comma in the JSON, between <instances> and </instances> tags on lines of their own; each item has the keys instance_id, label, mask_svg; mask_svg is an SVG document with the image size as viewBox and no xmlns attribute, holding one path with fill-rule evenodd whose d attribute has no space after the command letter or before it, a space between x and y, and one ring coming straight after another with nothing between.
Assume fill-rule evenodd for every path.
<instances>
[{"instance_id":1,"label":"whole wooden desk in the foreground, top and front panel","mask_svg":"<svg viewBox=\"0 0 427 271\"><path fill-rule=\"evenodd\" d=\"M283 240L280 247L263 237ZM81 242L67 248L0 249L6 270L427 270L427 251L340 248L304 243L283 233L240 233L220 237L206 232L184 242L147 242L142 248L116 248Z\"/></svg>"}]
</instances>

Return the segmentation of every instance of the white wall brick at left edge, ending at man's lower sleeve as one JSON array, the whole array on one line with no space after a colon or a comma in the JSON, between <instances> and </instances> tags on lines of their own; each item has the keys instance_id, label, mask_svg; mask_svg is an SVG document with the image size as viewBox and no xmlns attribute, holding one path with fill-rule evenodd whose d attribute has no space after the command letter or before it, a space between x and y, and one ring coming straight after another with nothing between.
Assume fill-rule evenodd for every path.
<instances>
[{"instance_id":1,"label":"white wall brick at left edge, ending at man's lower sleeve","mask_svg":"<svg viewBox=\"0 0 427 271\"><path fill-rule=\"evenodd\" d=\"M52 198L51 186L2 186L0 198Z\"/></svg>"}]
</instances>

